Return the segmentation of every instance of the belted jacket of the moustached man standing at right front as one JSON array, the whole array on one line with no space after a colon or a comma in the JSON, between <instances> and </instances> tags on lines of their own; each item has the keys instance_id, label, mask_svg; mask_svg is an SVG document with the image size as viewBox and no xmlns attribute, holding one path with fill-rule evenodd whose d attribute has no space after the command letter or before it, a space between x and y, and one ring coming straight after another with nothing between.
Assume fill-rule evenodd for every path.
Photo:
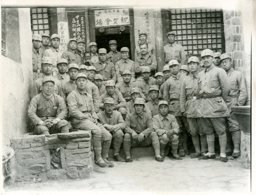
<instances>
[{"instance_id":1,"label":"belted jacket of the moustached man standing at right front","mask_svg":"<svg viewBox=\"0 0 256 195\"><path fill-rule=\"evenodd\" d=\"M216 96L214 98L200 99L200 107L198 107L198 117L215 118L229 116L230 113L224 100L230 92L230 84L228 82L227 73L221 68L212 64L205 71L198 74L198 91L201 96Z\"/></svg>"}]
</instances>

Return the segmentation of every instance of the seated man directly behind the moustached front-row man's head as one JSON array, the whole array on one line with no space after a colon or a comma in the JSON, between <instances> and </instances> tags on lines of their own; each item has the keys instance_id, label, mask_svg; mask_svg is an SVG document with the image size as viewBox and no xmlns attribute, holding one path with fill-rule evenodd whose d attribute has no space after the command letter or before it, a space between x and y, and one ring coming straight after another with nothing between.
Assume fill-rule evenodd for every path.
<instances>
[{"instance_id":1,"label":"seated man directly behind the moustached front-row man's head","mask_svg":"<svg viewBox=\"0 0 256 195\"><path fill-rule=\"evenodd\" d=\"M115 86L115 82L112 80L106 81L105 83L106 86L106 92L103 93L100 97L99 97L99 107L100 107L100 111L104 110L104 104L103 104L103 100L107 97L111 97L115 100L115 105L114 105L114 110L119 111L123 118L126 116L127 113L127 105L126 105L126 101L122 96L122 93L118 92L116 93L116 86Z\"/></svg>"}]
</instances>

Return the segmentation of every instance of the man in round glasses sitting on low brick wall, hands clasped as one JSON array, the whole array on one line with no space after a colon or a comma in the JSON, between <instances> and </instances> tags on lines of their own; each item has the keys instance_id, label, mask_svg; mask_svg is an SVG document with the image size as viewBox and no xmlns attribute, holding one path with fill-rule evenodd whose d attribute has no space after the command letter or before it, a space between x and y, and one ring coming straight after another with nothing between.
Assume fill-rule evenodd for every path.
<instances>
[{"instance_id":1,"label":"man in round glasses sitting on low brick wall, hands clasped","mask_svg":"<svg viewBox=\"0 0 256 195\"><path fill-rule=\"evenodd\" d=\"M67 107L61 96L53 93L54 85L55 79L45 76L42 79L43 91L29 104L28 117L36 135L69 132L68 123L64 120L68 114Z\"/></svg>"}]
</instances>

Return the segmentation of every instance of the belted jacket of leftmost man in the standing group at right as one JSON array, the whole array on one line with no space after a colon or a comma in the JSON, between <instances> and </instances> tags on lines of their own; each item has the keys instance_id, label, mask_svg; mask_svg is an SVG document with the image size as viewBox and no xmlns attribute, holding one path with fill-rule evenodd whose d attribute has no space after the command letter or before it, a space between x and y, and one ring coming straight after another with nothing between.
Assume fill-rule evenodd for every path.
<instances>
[{"instance_id":1,"label":"belted jacket of leftmost man in the standing group at right","mask_svg":"<svg viewBox=\"0 0 256 195\"><path fill-rule=\"evenodd\" d=\"M187 76L178 73L177 76L170 76L164 85L163 100L169 103L169 113L174 116L182 116L180 112L180 88L183 79Z\"/></svg>"}]
</instances>

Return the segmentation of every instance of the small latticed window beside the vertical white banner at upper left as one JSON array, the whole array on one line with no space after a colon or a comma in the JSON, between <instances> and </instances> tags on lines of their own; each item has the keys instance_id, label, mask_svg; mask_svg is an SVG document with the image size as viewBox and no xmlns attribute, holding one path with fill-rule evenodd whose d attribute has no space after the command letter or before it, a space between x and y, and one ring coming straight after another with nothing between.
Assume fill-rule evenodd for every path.
<instances>
[{"instance_id":1,"label":"small latticed window beside the vertical white banner at upper left","mask_svg":"<svg viewBox=\"0 0 256 195\"><path fill-rule=\"evenodd\" d=\"M48 8L31 8L31 29L33 34L50 34Z\"/></svg>"}]
</instances>

